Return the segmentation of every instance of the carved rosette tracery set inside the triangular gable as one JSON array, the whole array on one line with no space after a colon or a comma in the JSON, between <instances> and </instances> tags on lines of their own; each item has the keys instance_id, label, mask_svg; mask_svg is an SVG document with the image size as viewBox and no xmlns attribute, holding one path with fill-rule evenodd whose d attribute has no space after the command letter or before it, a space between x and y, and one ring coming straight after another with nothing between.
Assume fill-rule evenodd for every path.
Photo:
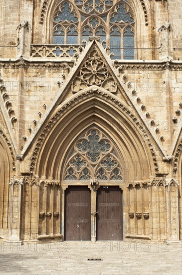
<instances>
[{"instance_id":1,"label":"carved rosette tracery set inside the triangular gable","mask_svg":"<svg viewBox=\"0 0 182 275\"><path fill-rule=\"evenodd\" d=\"M80 91L88 86L101 86L110 92L117 91L117 84L114 77L109 73L102 57L94 48L88 59L84 62L80 72L72 82L72 92Z\"/></svg>"}]
</instances>

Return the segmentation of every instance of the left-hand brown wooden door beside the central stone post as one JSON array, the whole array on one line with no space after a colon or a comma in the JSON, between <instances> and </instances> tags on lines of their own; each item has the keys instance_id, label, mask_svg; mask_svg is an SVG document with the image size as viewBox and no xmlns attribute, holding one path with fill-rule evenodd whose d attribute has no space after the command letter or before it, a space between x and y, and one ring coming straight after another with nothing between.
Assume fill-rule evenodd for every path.
<instances>
[{"instance_id":1,"label":"left-hand brown wooden door beside the central stone post","mask_svg":"<svg viewBox=\"0 0 182 275\"><path fill-rule=\"evenodd\" d=\"M91 190L69 186L65 190L65 240L91 240Z\"/></svg>"}]
</instances>

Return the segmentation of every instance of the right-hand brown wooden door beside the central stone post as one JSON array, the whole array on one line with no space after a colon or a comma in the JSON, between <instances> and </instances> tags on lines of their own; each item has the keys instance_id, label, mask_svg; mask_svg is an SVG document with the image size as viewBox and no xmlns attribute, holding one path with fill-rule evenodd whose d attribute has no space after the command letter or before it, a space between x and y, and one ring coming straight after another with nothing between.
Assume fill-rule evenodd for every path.
<instances>
[{"instance_id":1,"label":"right-hand brown wooden door beside the central stone post","mask_svg":"<svg viewBox=\"0 0 182 275\"><path fill-rule=\"evenodd\" d=\"M119 186L97 190L97 240L122 240L122 191Z\"/></svg>"}]
</instances>

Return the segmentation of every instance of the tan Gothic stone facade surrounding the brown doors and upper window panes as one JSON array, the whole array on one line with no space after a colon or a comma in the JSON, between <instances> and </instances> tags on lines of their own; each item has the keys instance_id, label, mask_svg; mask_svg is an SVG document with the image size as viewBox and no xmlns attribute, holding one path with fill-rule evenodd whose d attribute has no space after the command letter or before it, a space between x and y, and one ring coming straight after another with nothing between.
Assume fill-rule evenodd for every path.
<instances>
[{"instance_id":1,"label":"tan Gothic stone facade surrounding the brown doors and upper window panes","mask_svg":"<svg viewBox=\"0 0 182 275\"><path fill-rule=\"evenodd\" d=\"M100 2L0 1L3 239L63 240L69 185L91 190L93 241L102 185L122 190L123 239L182 239L182 1ZM129 17L118 30L131 28L134 58L114 57L101 18L119 16L119 4ZM77 44L53 43L53 16L66 5ZM86 11L106 42L94 27L82 41Z\"/></svg>"}]
</instances>

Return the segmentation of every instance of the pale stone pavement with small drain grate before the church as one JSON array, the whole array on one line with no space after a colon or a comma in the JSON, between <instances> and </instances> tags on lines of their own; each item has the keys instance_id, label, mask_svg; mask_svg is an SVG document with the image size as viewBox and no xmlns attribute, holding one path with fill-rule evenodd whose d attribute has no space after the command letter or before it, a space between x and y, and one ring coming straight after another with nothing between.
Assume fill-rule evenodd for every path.
<instances>
[{"instance_id":1,"label":"pale stone pavement with small drain grate before the church","mask_svg":"<svg viewBox=\"0 0 182 275\"><path fill-rule=\"evenodd\" d=\"M182 243L63 241L0 243L3 274L182 274Z\"/></svg>"}]
</instances>

